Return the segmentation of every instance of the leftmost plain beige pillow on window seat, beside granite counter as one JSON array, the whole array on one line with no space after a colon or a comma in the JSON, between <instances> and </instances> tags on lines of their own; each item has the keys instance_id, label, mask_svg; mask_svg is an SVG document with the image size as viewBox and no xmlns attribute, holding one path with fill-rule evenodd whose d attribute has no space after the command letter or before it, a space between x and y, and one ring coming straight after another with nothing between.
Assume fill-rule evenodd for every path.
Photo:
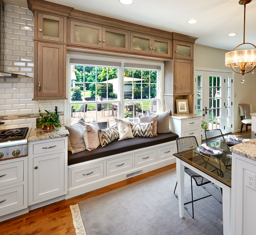
<instances>
[{"instance_id":1,"label":"leftmost plain beige pillow on window seat, beside granite counter","mask_svg":"<svg viewBox=\"0 0 256 235\"><path fill-rule=\"evenodd\" d=\"M84 118L78 120L78 122L73 125L65 125L65 128L68 129L68 151L72 154L79 153L86 149L84 144L84 131L85 121Z\"/></svg>"}]
</instances>

